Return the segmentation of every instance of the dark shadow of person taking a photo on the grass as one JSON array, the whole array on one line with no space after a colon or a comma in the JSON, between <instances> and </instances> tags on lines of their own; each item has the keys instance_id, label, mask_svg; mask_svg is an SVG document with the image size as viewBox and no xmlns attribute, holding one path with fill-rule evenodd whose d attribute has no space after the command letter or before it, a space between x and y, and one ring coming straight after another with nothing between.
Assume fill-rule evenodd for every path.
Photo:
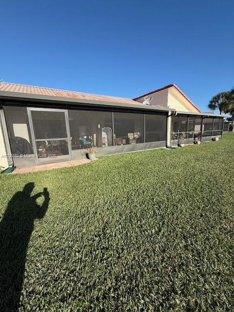
<instances>
[{"instance_id":1,"label":"dark shadow of person taking a photo on the grass","mask_svg":"<svg viewBox=\"0 0 234 312\"><path fill-rule=\"evenodd\" d=\"M25 260L34 220L44 217L49 205L49 193L31 196L34 183L27 183L9 201L0 221L0 311L16 312L20 304ZM36 199L41 195L41 206Z\"/></svg>"}]
</instances>

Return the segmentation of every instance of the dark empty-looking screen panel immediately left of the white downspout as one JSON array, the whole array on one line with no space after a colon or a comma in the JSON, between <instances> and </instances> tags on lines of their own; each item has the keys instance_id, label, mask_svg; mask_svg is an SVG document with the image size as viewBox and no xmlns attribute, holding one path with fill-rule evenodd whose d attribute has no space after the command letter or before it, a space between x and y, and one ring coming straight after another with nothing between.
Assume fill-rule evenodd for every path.
<instances>
[{"instance_id":1,"label":"dark empty-looking screen panel immediately left of the white downspout","mask_svg":"<svg viewBox=\"0 0 234 312\"><path fill-rule=\"evenodd\" d=\"M145 114L145 141L166 141L167 117L164 115Z\"/></svg>"}]
</instances>

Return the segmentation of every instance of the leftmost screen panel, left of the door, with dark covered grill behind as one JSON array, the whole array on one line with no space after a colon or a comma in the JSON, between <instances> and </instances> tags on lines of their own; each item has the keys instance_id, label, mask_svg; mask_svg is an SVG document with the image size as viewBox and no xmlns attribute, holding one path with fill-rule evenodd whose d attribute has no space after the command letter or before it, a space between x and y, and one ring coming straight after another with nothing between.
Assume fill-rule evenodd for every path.
<instances>
[{"instance_id":1,"label":"leftmost screen panel, left of the door, with dark covered grill behind","mask_svg":"<svg viewBox=\"0 0 234 312\"><path fill-rule=\"evenodd\" d=\"M27 108L20 106L4 106L4 112L12 154L34 154Z\"/></svg>"}]
</instances>

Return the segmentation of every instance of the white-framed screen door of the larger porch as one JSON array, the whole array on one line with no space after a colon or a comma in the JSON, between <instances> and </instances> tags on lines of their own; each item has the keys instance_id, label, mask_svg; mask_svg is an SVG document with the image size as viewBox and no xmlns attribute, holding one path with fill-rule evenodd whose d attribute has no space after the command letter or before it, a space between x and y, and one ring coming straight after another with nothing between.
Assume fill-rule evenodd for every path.
<instances>
[{"instance_id":1,"label":"white-framed screen door of the larger porch","mask_svg":"<svg viewBox=\"0 0 234 312\"><path fill-rule=\"evenodd\" d=\"M71 159L66 110L29 108L29 120L38 164Z\"/></svg>"}]
</instances>

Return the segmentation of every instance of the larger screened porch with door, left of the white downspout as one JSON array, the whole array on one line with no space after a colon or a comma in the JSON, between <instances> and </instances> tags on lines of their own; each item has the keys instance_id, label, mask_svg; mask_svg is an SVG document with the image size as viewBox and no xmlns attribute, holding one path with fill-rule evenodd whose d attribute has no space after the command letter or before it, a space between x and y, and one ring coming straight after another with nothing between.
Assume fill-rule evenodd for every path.
<instances>
[{"instance_id":1,"label":"larger screened porch with door, left of the white downspout","mask_svg":"<svg viewBox=\"0 0 234 312\"><path fill-rule=\"evenodd\" d=\"M83 158L92 146L99 156L166 146L164 110L5 102L2 111L18 167Z\"/></svg>"}]
</instances>

